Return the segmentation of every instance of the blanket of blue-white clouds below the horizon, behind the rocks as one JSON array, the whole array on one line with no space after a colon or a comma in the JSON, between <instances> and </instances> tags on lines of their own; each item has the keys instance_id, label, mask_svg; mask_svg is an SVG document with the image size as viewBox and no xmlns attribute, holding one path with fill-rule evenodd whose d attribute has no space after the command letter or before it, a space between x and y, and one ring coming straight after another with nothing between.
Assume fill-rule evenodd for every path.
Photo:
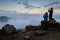
<instances>
[{"instance_id":1,"label":"blanket of blue-white clouds below the horizon, behind the rocks","mask_svg":"<svg viewBox=\"0 0 60 40\"><path fill-rule=\"evenodd\" d=\"M24 29L27 25L40 25L43 20L43 14L0 14L0 17L2 16L5 16L3 19L7 21L0 21L0 29L6 24L14 25L17 29ZM53 17L60 22L59 14L54 14Z\"/></svg>"}]
</instances>

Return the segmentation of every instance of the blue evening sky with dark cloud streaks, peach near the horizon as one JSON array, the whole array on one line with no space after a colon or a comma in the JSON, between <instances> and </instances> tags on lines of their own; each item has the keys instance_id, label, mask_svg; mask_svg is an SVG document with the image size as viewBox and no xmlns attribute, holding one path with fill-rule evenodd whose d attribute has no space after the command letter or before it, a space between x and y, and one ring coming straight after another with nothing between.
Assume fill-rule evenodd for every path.
<instances>
[{"instance_id":1,"label":"blue evening sky with dark cloud streaks, peach near the horizon","mask_svg":"<svg viewBox=\"0 0 60 40\"><path fill-rule=\"evenodd\" d=\"M60 0L0 0L0 13L43 14L51 7L60 13Z\"/></svg>"}]
</instances>

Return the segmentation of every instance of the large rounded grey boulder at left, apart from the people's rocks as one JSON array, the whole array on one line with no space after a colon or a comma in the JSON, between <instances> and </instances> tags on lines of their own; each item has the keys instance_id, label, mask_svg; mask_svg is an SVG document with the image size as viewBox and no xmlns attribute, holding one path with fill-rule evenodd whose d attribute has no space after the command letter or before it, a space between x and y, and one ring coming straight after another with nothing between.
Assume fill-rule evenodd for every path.
<instances>
[{"instance_id":1,"label":"large rounded grey boulder at left, apart from the people's rocks","mask_svg":"<svg viewBox=\"0 0 60 40\"><path fill-rule=\"evenodd\" d=\"M6 24L2 27L3 34L10 34L16 32L16 28L13 25Z\"/></svg>"}]
</instances>

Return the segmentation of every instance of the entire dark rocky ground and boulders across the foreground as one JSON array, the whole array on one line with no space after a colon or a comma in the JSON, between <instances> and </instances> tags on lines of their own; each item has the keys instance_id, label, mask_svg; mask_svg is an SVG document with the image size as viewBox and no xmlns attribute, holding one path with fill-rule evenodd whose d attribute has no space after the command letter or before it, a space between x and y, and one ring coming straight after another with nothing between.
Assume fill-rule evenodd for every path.
<instances>
[{"instance_id":1,"label":"entire dark rocky ground and boulders across the foreground","mask_svg":"<svg viewBox=\"0 0 60 40\"><path fill-rule=\"evenodd\" d=\"M60 40L60 23L41 21L41 25L27 25L25 30L6 24L0 29L0 40Z\"/></svg>"}]
</instances>

